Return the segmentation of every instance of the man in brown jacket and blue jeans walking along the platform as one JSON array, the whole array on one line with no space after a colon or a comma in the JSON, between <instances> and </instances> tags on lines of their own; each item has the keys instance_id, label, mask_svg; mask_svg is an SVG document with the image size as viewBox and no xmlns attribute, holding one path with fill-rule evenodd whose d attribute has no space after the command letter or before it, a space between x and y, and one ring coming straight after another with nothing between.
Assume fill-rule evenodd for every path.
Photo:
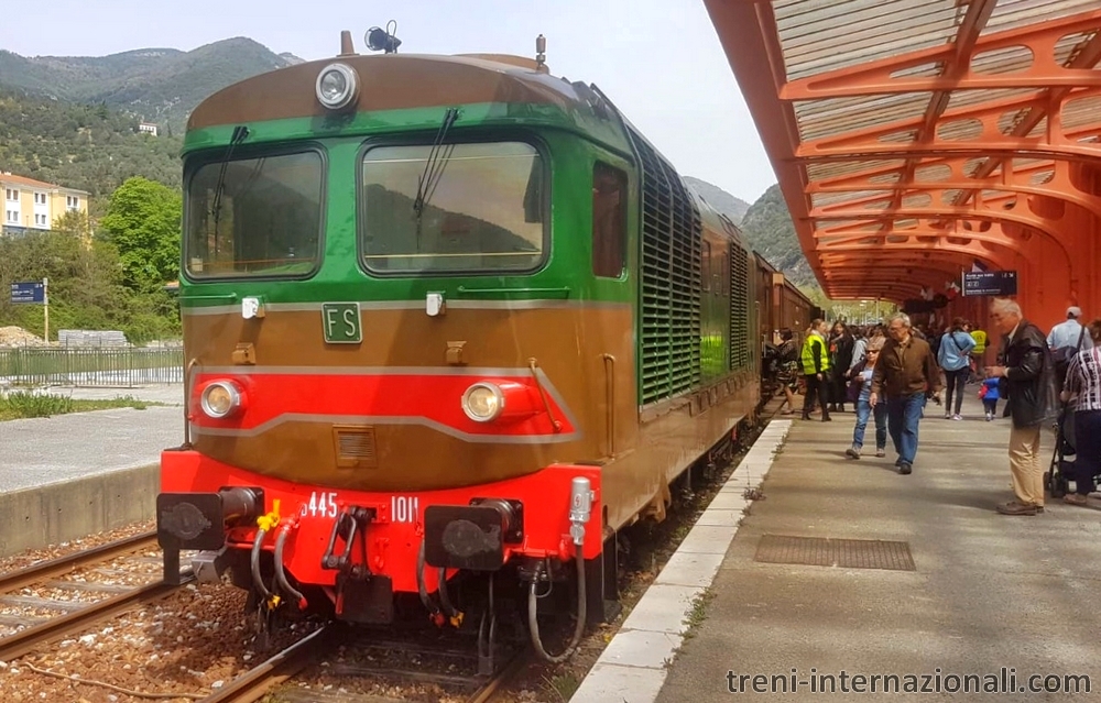
<instances>
[{"instance_id":1,"label":"man in brown jacket and blue jeans walking along the platform","mask_svg":"<svg viewBox=\"0 0 1101 703\"><path fill-rule=\"evenodd\" d=\"M929 343L912 333L909 317L898 312L887 323L889 339L872 374L869 405L887 404L887 432L898 452L898 473L913 470L917 424L925 402L940 392L940 369ZM939 400L939 395L936 395Z\"/></svg>"}]
</instances>

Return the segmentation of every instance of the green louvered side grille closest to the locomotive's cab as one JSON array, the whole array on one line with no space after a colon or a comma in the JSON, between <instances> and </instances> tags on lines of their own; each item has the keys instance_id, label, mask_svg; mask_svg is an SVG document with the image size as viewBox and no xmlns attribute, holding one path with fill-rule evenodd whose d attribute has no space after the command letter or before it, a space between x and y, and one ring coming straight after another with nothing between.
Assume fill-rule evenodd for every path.
<instances>
[{"instance_id":1,"label":"green louvered side grille closest to the locomotive's cab","mask_svg":"<svg viewBox=\"0 0 1101 703\"><path fill-rule=\"evenodd\" d=\"M699 212L680 176L637 132L642 160L643 405L668 398L700 380Z\"/></svg>"}]
</instances>

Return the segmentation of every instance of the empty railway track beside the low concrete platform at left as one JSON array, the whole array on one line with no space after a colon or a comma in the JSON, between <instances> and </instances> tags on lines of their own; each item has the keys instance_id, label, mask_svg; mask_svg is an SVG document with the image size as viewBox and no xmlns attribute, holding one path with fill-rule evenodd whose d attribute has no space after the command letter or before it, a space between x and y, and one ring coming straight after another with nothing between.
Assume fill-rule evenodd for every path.
<instances>
[{"instance_id":1,"label":"empty railway track beside the low concrete platform at left","mask_svg":"<svg viewBox=\"0 0 1101 703\"><path fill-rule=\"evenodd\" d=\"M139 586L126 586L61 579L61 576L77 570L92 568L96 564L110 563L120 557L140 552L155 545L156 534L145 532L52 559L0 576L0 593L3 594L0 595L0 604L9 607L64 613L54 617L41 617L37 615L0 616L0 623L4 625L25 627L25 629L15 631L14 634L0 637L0 661L18 659L19 657L36 651L65 635L80 631L100 620L126 612L134 606L156 601L177 590L178 585L170 585L163 581L145 583ZM146 558L139 559L149 560ZM185 573L181 585L188 583L192 578L189 572ZM41 585L43 589L53 591L90 591L102 593L107 597L91 602L81 602L13 594L13 592L34 585Z\"/></svg>"}]
</instances>

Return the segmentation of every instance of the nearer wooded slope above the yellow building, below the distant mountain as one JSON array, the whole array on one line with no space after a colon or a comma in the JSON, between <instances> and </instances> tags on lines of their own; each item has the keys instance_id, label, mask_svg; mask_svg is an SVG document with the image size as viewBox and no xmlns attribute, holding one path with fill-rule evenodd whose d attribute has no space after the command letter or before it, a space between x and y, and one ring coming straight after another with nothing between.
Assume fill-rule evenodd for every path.
<instances>
[{"instance_id":1,"label":"nearer wooded slope above the yellow building, below the distant mountain","mask_svg":"<svg viewBox=\"0 0 1101 703\"><path fill-rule=\"evenodd\" d=\"M182 140L137 130L135 118L103 105L0 90L0 171L87 190L97 209L130 176L178 188Z\"/></svg>"}]
</instances>

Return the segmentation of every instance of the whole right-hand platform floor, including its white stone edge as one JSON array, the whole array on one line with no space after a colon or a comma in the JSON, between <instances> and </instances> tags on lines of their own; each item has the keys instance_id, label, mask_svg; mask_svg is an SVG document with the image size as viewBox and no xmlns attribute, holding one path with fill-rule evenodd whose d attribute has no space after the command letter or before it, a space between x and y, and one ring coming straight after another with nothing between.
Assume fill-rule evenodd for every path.
<instances>
[{"instance_id":1,"label":"whole right-hand platform floor, including its white stone edge","mask_svg":"<svg viewBox=\"0 0 1101 703\"><path fill-rule=\"evenodd\" d=\"M1095 693L1101 502L1048 497L1042 515L996 513L1013 498L1010 420L985 421L973 388L963 421L927 407L911 475L894 468L890 439L885 458L869 457L871 433L864 458L844 457L851 411L773 420L571 702L803 701L822 691L857 701L874 675L876 692L913 683L915 697L991 697L989 688L950 690L981 683L1023 701L1073 700L1086 695L1083 681L1066 679L1077 674ZM1045 468L1053 443L1044 431ZM748 501L756 486L763 497ZM979 678L950 678L964 674ZM1033 675L1058 692L1022 691Z\"/></svg>"}]
</instances>

